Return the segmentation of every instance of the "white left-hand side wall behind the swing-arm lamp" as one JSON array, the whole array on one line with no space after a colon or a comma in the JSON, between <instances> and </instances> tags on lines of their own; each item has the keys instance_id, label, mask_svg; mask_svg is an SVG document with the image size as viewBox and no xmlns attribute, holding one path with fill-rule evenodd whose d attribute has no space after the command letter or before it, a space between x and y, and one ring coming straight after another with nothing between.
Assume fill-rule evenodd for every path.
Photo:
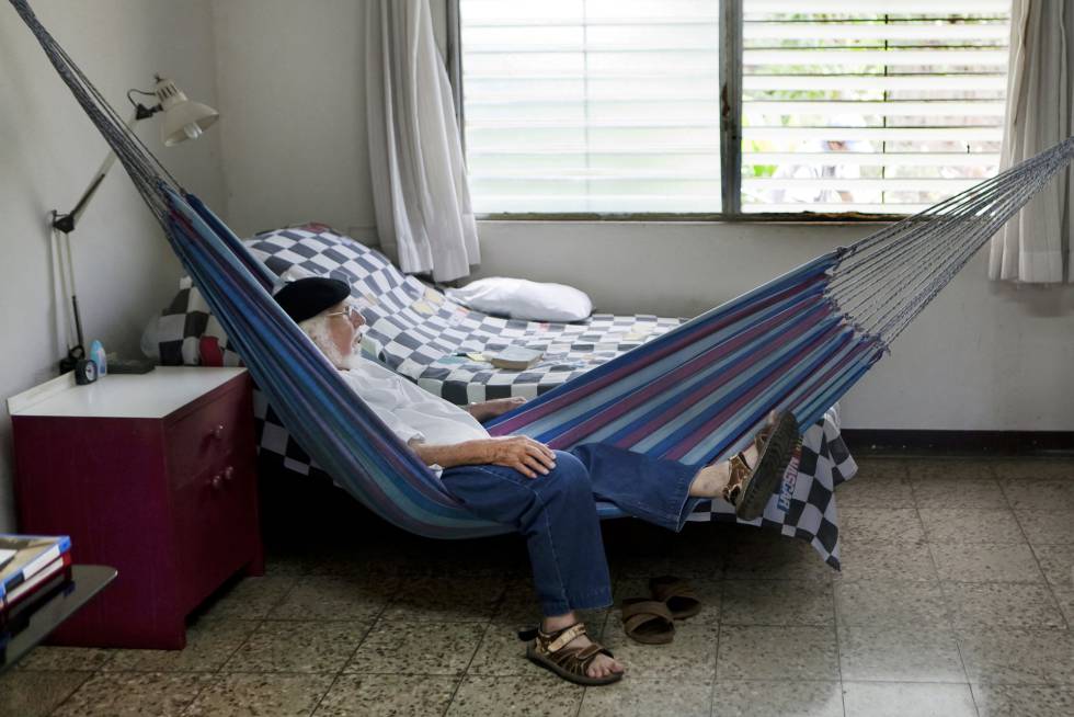
<instances>
[{"instance_id":1,"label":"white left-hand side wall behind the swing-arm lamp","mask_svg":"<svg viewBox=\"0 0 1074 717\"><path fill-rule=\"evenodd\" d=\"M35 0L42 22L121 113L127 89L153 72L216 105L208 0ZM165 149L159 127L139 136L175 177L210 204L222 201L219 137ZM56 375L66 353L57 328L46 214L69 209L107 147L22 20L0 3L0 399ZM121 167L72 235L87 341L138 355L148 318L174 294L179 264ZM0 407L0 532L12 530L11 424Z\"/></svg>"}]
</instances>

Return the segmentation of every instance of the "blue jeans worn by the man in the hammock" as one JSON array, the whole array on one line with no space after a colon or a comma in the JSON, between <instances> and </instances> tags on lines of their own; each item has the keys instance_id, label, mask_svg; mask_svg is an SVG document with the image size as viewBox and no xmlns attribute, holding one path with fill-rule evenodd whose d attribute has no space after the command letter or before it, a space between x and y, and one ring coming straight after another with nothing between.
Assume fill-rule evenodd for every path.
<instances>
[{"instance_id":1,"label":"blue jeans worn by the man in the hammock","mask_svg":"<svg viewBox=\"0 0 1074 717\"><path fill-rule=\"evenodd\" d=\"M527 478L513 468L448 468L447 490L475 514L512 525L526 538L545 615L612 604L596 500L679 531L698 503L688 499L697 468L590 443L556 452L556 468Z\"/></svg>"}]
</instances>

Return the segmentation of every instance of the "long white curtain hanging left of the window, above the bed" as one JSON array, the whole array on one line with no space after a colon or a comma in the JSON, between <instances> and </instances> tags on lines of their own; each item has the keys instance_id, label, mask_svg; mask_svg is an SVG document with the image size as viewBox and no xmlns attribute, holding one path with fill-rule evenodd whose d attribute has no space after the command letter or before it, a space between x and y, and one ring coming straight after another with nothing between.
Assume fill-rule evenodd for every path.
<instances>
[{"instance_id":1,"label":"long white curtain hanging left of the window, above the bed","mask_svg":"<svg viewBox=\"0 0 1074 717\"><path fill-rule=\"evenodd\" d=\"M467 276L477 225L429 0L366 0L366 105L381 248L404 272Z\"/></svg>"}]
</instances>

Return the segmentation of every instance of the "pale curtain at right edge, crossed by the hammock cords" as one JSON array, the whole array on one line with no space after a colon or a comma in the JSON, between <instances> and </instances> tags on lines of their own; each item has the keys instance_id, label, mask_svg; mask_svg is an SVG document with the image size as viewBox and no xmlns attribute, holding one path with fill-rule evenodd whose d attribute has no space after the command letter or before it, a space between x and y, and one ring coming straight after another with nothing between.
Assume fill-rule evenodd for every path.
<instances>
[{"instance_id":1,"label":"pale curtain at right edge, crossed by the hammock cords","mask_svg":"<svg viewBox=\"0 0 1074 717\"><path fill-rule=\"evenodd\" d=\"M1004 169L1074 134L1074 9L1065 7L1067 1L1012 2ZM1032 284L1064 280L1063 260L1074 248L1070 184L1066 173L1050 182L992 239L990 278Z\"/></svg>"}]
</instances>

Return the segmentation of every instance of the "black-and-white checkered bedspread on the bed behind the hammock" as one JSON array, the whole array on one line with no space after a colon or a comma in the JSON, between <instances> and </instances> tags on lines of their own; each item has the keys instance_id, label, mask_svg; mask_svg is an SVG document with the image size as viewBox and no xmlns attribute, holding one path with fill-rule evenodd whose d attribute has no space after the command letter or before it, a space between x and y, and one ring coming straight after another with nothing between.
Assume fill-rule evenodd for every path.
<instances>
[{"instance_id":1,"label":"black-and-white checkered bedspread on the bed behind the hammock","mask_svg":"<svg viewBox=\"0 0 1074 717\"><path fill-rule=\"evenodd\" d=\"M366 357L422 388L464 405L509 396L534 398L678 326L655 316L594 315L581 323L542 323L473 311L412 276L379 252L322 225L260 234L244 241L260 261L287 281L335 276L351 284L365 317ZM157 322L163 364L239 365L219 322L188 278ZM526 371L494 368L485 358L507 346L542 352ZM260 391L254 394L261 459L301 475L323 471L283 426ZM855 470L833 409L803 436L797 475L763 519L785 535L804 537L838 567L838 528L832 490ZM717 503L692 520L734 520Z\"/></svg>"}]
</instances>

